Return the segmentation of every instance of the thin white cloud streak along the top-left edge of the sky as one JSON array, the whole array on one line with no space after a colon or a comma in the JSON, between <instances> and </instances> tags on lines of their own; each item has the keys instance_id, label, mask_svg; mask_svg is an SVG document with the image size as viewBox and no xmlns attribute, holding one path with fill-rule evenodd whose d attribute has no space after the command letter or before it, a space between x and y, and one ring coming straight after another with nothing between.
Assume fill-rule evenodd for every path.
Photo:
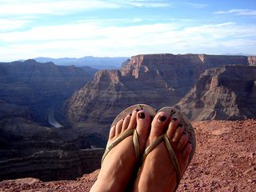
<instances>
[{"instance_id":1,"label":"thin white cloud streak along the top-left edge of the sky","mask_svg":"<svg viewBox=\"0 0 256 192\"><path fill-rule=\"evenodd\" d=\"M0 0L0 15L67 14L82 10L118 9L124 6L164 7L166 1L132 0Z\"/></svg>"}]
</instances>

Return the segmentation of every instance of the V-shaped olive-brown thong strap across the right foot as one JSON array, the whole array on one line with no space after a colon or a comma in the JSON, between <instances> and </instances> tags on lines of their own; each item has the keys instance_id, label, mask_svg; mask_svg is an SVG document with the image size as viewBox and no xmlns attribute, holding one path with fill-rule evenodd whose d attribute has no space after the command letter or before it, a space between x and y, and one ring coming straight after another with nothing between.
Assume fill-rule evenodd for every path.
<instances>
[{"instance_id":1,"label":"V-shaped olive-brown thong strap across the right foot","mask_svg":"<svg viewBox=\"0 0 256 192\"><path fill-rule=\"evenodd\" d=\"M173 149L173 147L171 146L170 141L169 141L169 138L167 138L167 135L166 135L166 134L160 135L157 139L154 140L154 142L152 142L152 143L150 144L150 146L146 147L146 150L145 150L145 152L144 152L144 154L143 154L143 156L142 156L142 162L145 161L146 156L147 156L148 154L150 154L150 152L151 152L152 150L154 150L154 148L155 148L156 146L158 146L158 145L160 144L160 142L162 142L162 141L164 141L165 144L166 144L166 148L167 148L167 150L168 150L168 152L169 152L169 154L170 154L170 160L171 160L171 162L172 162L172 164L173 164L173 166L174 166L174 170L175 170L175 172L176 172L176 181L177 181L176 183L177 183L177 184L176 184L175 190L177 190L177 188L178 188L178 183L179 183L180 180L181 180L181 170L180 170L180 166L179 166L179 163L178 163L178 158L176 157L176 154L174 153L174 149ZM174 190L174 191L175 191L175 190Z\"/></svg>"}]
</instances>

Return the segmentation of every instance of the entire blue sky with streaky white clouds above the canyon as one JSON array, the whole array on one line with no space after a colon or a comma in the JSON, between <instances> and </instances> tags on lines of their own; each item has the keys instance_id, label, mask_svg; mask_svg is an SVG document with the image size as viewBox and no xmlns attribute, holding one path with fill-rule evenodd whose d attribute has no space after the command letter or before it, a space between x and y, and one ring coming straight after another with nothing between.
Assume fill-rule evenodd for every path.
<instances>
[{"instance_id":1,"label":"entire blue sky with streaky white clouds above the canyon","mask_svg":"<svg viewBox=\"0 0 256 192\"><path fill-rule=\"evenodd\" d=\"M255 0L0 0L0 62L256 54Z\"/></svg>"}]
</instances>

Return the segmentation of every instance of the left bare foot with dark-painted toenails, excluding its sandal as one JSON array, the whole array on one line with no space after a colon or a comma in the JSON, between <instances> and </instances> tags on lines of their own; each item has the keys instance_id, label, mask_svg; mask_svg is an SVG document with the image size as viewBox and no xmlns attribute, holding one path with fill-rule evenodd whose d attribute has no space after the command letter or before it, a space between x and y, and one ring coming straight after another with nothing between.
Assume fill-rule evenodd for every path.
<instances>
[{"instance_id":1,"label":"left bare foot with dark-painted toenails, excluding its sandal","mask_svg":"<svg viewBox=\"0 0 256 192\"><path fill-rule=\"evenodd\" d=\"M108 144L114 142L125 130L133 129L138 132L139 151L142 154L150 132L150 114L144 110L134 110L132 114L118 121L116 126L111 127ZM133 136L131 135L106 154L98 179L90 191L125 191L136 164L138 162L135 157Z\"/></svg>"}]
</instances>

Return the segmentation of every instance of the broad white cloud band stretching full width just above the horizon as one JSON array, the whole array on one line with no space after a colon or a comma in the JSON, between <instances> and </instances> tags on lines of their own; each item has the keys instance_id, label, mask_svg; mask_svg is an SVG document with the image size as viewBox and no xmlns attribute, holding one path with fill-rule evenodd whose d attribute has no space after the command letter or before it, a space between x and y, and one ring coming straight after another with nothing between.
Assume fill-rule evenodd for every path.
<instances>
[{"instance_id":1,"label":"broad white cloud band stretching full width just above the horizon","mask_svg":"<svg viewBox=\"0 0 256 192\"><path fill-rule=\"evenodd\" d=\"M104 26L99 22L39 26L22 32L0 33L0 42L6 44L0 47L0 58L14 60L39 56L130 56L206 51L222 54L232 53L232 50L255 54L254 31L256 25L240 26L235 22L190 27L171 22L142 26Z\"/></svg>"}]
</instances>

